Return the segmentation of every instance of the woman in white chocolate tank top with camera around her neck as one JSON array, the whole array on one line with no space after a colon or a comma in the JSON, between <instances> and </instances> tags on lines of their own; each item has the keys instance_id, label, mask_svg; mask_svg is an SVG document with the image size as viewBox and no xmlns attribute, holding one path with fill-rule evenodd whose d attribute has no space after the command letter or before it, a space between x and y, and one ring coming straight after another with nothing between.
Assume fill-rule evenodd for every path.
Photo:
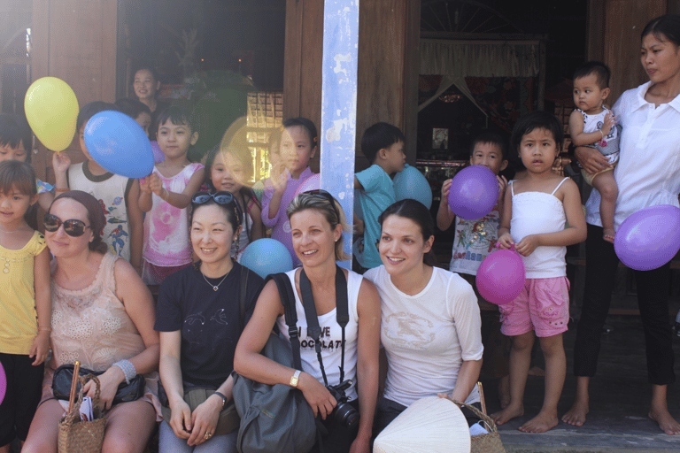
<instances>
[{"instance_id":1,"label":"woman in white chocolate tank top with camera around her neck","mask_svg":"<svg viewBox=\"0 0 680 453\"><path fill-rule=\"evenodd\" d=\"M287 210L293 248L302 268L287 273L295 291L302 370L279 365L264 357L265 346L274 325L290 340L284 310L274 281L269 281L259 296L251 321L245 327L236 346L236 372L265 384L297 387L312 407L321 415L330 433L323 442L324 451L367 452L373 426L375 399L378 390L378 349L380 299L373 284L358 273L340 269L336 260L347 259L343 252L343 230L347 228L339 203L325 191L305 192L296 196ZM336 320L336 272L343 273L347 282L349 323L345 327L344 348L342 328ZM300 285L308 280L313 304L321 326L321 357L328 385L340 383L340 366L344 364L344 379L352 380L345 390L349 403L359 407L359 429L354 432L333 421L337 401L325 387L313 339L308 337L305 308ZM341 287L342 288L342 287ZM344 351L344 362L343 362ZM358 383L355 385L354 383ZM356 438L355 438L356 436Z\"/></svg>"}]
</instances>

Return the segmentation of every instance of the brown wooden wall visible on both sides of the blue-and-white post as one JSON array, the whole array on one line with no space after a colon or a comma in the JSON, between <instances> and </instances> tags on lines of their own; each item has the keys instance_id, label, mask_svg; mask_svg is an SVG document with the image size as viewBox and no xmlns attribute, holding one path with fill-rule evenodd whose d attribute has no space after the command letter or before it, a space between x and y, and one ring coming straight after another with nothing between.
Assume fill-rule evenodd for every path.
<instances>
[{"instance_id":1,"label":"brown wooden wall visible on both sides of the blue-and-white post","mask_svg":"<svg viewBox=\"0 0 680 453\"><path fill-rule=\"evenodd\" d=\"M377 121L406 134L406 157L415 163L418 111L420 2L359 2L357 171L368 166L361 136ZM283 117L304 116L321 127L323 2L287 0ZM320 134L322 132L320 131ZM318 171L318 157L312 163Z\"/></svg>"}]
</instances>

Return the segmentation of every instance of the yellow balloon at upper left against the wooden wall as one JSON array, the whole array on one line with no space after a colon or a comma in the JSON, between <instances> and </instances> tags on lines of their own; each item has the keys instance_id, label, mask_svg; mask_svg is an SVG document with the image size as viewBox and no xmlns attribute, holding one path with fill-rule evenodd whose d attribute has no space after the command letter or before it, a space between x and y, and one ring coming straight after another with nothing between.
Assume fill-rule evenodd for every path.
<instances>
[{"instance_id":1,"label":"yellow balloon at upper left against the wooden wall","mask_svg":"<svg viewBox=\"0 0 680 453\"><path fill-rule=\"evenodd\" d=\"M73 141L78 99L65 81L42 77L33 82L26 92L24 111L35 136L48 149L66 150Z\"/></svg>"}]
</instances>

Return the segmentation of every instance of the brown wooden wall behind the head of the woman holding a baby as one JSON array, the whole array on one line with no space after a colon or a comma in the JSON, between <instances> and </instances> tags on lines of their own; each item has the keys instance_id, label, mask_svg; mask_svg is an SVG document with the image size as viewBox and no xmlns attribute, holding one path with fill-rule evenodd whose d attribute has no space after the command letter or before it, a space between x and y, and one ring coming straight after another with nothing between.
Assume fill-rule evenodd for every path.
<instances>
[{"instance_id":1,"label":"brown wooden wall behind the head of the woman holding a baby","mask_svg":"<svg viewBox=\"0 0 680 453\"><path fill-rule=\"evenodd\" d=\"M668 12L667 0L591 0L588 58L604 61L612 70L614 104L623 91L649 81L640 64L640 33L647 22Z\"/></svg>"}]
</instances>

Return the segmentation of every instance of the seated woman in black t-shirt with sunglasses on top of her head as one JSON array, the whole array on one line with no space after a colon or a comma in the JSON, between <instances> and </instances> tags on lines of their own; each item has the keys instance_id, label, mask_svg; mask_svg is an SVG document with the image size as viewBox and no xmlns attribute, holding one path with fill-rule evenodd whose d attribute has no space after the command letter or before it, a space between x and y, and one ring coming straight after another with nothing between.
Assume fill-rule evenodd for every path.
<instances>
[{"instance_id":1,"label":"seated woman in black t-shirt with sunglasses on top of her head","mask_svg":"<svg viewBox=\"0 0 680 453\"><path fill-rule=\"evenodd\" d=\"M252 312L262 278L234 262L232 243L242 213L229 192L198 192L191 198L189 237L199 261L163 281L158 294L162 403L170 417L160 426L159 451L236 452L238 429L220 433L220 412L231 401L234 349ZM247 318L247 316L245 317ZM192 389L214 390L193 411L185 402ZM205 395L204 395L205 396ZM166 413L167 415L167 413Z\"/></svg>"}]
</instances>

